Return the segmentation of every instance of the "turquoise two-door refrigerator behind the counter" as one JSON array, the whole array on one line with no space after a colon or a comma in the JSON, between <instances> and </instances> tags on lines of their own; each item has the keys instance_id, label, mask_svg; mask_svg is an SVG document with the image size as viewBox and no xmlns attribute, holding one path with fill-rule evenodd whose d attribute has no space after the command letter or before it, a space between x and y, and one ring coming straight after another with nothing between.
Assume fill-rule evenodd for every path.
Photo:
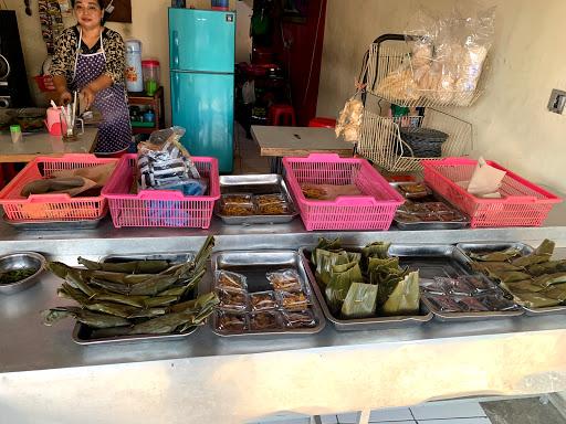
<instances>
[{"instance_id":1,"label":"turquoise two-door refrigerator behind the counter","mask_svg":"<svg viewBox=\"0 0 566 424\"><path fill-rule=\"evenodd\" d=\"M193 156L232 172L235 13L169 8L172 125Z\"/></svg>"}]
</instances>

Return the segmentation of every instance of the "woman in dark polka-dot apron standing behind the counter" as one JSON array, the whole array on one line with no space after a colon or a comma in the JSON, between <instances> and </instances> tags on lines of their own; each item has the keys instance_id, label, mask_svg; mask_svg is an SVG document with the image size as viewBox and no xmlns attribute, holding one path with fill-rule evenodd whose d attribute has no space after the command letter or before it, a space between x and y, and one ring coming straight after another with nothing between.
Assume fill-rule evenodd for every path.
<instances>
[{"instance_id":1,"label":"woman in dark polka-dot apron standing behind the counter","mask_svg":"<svg viewBox=\"0 0 566 424\"><path fill-rule=\"evenodd\" d=\"M80 91L86 108L102 114L97 155L125 152L132 142L132 126L125 87L125 44L120 34L105 28L104 0L75 0L77 20L57 39L50 73L60 104Z\"/></svg>"}]
</instances>

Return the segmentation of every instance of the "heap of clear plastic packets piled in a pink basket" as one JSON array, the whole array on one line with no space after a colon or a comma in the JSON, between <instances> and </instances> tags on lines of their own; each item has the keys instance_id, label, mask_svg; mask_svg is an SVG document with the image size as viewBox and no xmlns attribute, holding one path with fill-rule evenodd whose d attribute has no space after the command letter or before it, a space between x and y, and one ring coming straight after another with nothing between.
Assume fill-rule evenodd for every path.
<instances>
[{"instance_id":1,"label":"heap of clear plastic packets piled in a pink basket","mask_svg":"<svg viewBox=\"0 0 566 424\"><path fill-rule=\"evenodd\" d=\"M180 144L185 128L171 127L155 131L148 141L138 145L138 177L142 190L179 190L187 195L202 195L206 182Z\"/></svg>"}]
</instances>

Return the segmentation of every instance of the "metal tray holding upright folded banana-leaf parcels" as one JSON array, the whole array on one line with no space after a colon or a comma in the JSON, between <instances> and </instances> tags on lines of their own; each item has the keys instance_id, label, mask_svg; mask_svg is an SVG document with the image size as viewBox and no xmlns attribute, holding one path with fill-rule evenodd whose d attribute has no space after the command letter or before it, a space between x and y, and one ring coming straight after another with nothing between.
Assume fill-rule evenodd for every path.
<instances>
[{"instance_id":1,"label":"metal tray holding upright folded banana-leaf parcels","mask_svg":"<svg viewBox=\"0 0 566 424\"><path fill-rule=\"evenodd\" d=\"M392 247L392 246L391 246ZM343 246L346 251L359 251L361 246ZM326 298L322 293L315 277L315 269L311 262L311 250L302 247L300 250L301 257L305 264L306 274L308 275L308 284L311 285L321 307L324 316L331 321L334 328L338 331L358 331L358 330L385 330L389 328L406 328L423 325L432 319L432 312L428 310L427 305L421 300L420 303L420 315L411 316L397 316L397 317L371 317L371 318L358 318L358 319L340 319L336 318L328 306L326 305ZM391 252L391 251L390 251Z\"/></svg>"}]
</instances>

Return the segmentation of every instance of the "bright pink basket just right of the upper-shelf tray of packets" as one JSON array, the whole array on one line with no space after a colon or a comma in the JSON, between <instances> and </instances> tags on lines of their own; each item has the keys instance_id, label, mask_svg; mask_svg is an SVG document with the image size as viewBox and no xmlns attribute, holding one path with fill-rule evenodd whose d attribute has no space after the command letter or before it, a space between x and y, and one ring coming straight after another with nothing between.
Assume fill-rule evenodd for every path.
<instances>
[{"instance_id":1,"label":"bright pink basket just right of the upper-shelf tray of packets","mask_svg":"<svg viewBox=\"0 0 566 424\"><path fill-rule=\"evenodd\" d=\"M307 231L387 230L403 203L401 195L365 159L312 153L307 158L284 158L283 166ZM355 184L365 195L307 200L302 183Z\"/></svg>"}]
</instances>

